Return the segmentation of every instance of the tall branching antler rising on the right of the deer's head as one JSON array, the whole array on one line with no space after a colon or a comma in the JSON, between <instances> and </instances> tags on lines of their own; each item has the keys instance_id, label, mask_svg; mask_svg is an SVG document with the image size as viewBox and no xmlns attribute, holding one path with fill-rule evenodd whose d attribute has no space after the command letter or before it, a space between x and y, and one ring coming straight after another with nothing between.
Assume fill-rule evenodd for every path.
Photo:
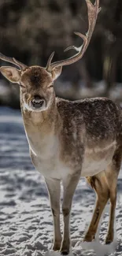
<instances>
[{"instance_id":1,"label":"tall branching antler rising on the right of the deer's head","mask_svg":"<svg viewBox=\"0 0 122 256\"><path fill-rule=\"evenodd\" d=\"M66 60L56 61L54 63L51 63L52 58L54 57L54 52L53 52L53 54L50 55L50 58L47 61L47 65L46 65L47 71L51 71L56 67L63 66L63 65L70 65L76 61L79 61L79 59L83 57L83 54L87 50L87 46L90 43L91 35L94 32L94 26L96 24L98 13L100 12L101 8L98 8L99 0L96 0L94 5L91 3L90 0L85 0L85 1L87 3L87 12L88 12L88 31L86 35L83 35L79 32L75 32L76 35L79 35L79 37L83 39L83 44L82 46L79 46L79 47L68 46L68 48L65 49L65 51L74 49L78 52L78 54L75 54L74 56Z\"/></svg>"}]
</instances>

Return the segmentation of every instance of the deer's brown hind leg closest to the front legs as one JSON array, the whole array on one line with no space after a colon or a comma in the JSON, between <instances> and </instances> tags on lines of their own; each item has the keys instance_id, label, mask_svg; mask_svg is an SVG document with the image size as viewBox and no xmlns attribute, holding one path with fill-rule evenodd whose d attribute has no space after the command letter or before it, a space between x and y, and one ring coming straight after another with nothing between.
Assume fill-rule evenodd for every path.
<instances>
[{"instance_id":1,"label":"deer's brown hind leg closest to the front legs","mask_svg":"<svg viewBox=\"0 0 122 256\"><path fill-rule=\"evenodd\" d=\"M93 217L91 219L91 224L89 225L87 233L83 239L83 241L91 242L95 237L98 223L100 221L100 218L102 217L102 212L105 208L106 203L109 200L109 187L105 182L105 176L98 177L97 175L87 177L87 181L91 185L91 187L94 188L94 191L97 195L96 206L94 209Z\"/></svg>"}]
</instances>

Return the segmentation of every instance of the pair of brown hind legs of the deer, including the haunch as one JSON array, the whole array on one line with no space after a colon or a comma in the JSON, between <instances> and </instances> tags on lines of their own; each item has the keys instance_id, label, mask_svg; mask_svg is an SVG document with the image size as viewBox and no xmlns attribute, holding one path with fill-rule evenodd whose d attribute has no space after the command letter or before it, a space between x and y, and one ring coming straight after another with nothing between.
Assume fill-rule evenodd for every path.
<instances>
[{"instance_id":1,"label":"pair of brown hind legs of the deer, including the haunch","mask_svg":"<svg viewBox=\"0 0 122 256\"><path fill-rule=\"evenodd\" d=\"M94 209L94 214L91 224L88 228L84 241L91 242L97 232L98 223L102 216L102 212L106 203L110 200L110 216L109 229L105 239L105 243L112 243L114 236L114 217L116 209L116 184L117 177L120 171L122 150L116 150L113 155L113 160L108 168L96 176L87 177L87 181L94 188L97 194L97 202Z\"/></svg>"}]
</instances>

